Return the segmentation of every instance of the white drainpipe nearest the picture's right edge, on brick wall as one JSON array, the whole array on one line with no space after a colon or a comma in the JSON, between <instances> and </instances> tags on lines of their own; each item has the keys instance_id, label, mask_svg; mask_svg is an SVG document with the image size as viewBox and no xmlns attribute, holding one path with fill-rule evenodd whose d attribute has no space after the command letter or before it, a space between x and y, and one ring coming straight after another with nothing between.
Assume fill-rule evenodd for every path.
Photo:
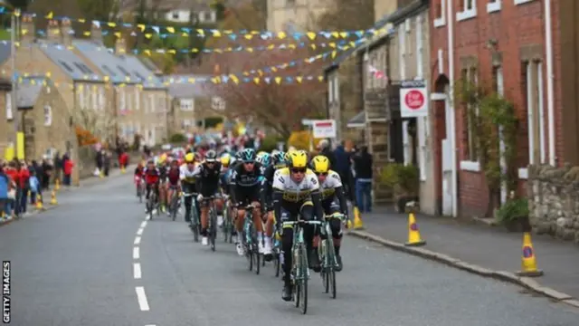
<instances>
[{"instance_id":1,"label":"white drainpipe nearest the picture's right edge, on brick wall","mask_svg":"<svg viewBox=\"0 0 579 326\"><path fill-rule=\"evenodd\" d=\"M545 34L546 34L546 96L549 121L549 164L555 166L555 94L553 74L553 26L551 22L551 0L545 1Z\"/></svg>"}]
</instances>

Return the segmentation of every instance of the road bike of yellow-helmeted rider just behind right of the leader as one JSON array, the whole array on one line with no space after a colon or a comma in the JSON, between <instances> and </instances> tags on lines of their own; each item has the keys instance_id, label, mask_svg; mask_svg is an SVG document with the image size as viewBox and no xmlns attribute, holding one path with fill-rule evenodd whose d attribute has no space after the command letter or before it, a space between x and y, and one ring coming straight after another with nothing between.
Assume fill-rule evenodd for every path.
<instances>
[{"instance_id":1,"label":"road bike of yellow-helmeted rider just behind right of the leader","mask_svg":"<svg viewBox=\"0 0 579 326\"><path fill-rule=\"evenodd\" d=\"M330 293L333 299L336 299L336 269L337 269L337 259L336 252L334 251L334 238L332 237L332 229L330 228L330 221L334 218L340 220L340 223L344 220L343 214L333 214L326 216L323 221L321 221L320 227L320 244L318 245L318 256L321 262L321 271L319 275L322 278L322 283L324 284L324 291ZM331 292L330 292L331 289Z\"/></svg>"}]
</instances>

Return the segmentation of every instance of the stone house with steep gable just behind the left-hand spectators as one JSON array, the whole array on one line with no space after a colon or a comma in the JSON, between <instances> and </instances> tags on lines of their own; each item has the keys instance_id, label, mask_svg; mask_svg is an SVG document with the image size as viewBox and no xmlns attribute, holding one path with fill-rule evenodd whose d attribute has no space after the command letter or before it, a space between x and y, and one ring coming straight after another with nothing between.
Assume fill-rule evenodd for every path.
<instances>
[{"instance_id":1,"label":"stone house with steep gable just behind the left-hand spectators","mask_svg":"<svg viewBox=\"0 0 579 326\"><path fill-rule=\"evenodd\" d=\"M26 158L38 160L56 151L64 154L78 150L68 108L50 79L44 76L25 78L16 95ZM78 185L79 168L73 169L72 181Z\"/></svg>"}]
</instances>

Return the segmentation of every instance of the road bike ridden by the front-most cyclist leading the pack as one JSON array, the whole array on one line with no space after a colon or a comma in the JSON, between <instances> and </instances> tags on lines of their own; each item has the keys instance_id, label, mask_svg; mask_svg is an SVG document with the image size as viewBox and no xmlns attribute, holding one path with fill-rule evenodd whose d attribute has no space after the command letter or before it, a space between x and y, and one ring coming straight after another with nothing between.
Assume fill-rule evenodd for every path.
<instances>
[{"instance_id":1,"label":"road bike ridden by the front-most cyclist leading the pack","mask_svg":"<svg viewBox=\"0 0 579 326\"><path fill-rule=\"evenodd\" d=\"M296 307L299 307L301 313L308 312L308 249L304 241L304 225L320 225L319 221L288 221L283 222L282 225L291 226L293 229L293 245L291 245L291 279L293 287L293 299L296 302Z\"/></svg>"}]
</instances>

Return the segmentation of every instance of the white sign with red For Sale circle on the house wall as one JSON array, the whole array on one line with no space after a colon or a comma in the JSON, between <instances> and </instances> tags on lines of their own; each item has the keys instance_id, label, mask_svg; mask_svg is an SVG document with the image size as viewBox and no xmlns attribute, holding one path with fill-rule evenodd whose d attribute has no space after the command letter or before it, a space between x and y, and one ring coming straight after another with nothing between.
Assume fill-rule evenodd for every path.
<instances>
[{"instance_id":1,"label":"white sign with red For Sale circle on the house wall","mask_svg":"<svg viewBox=\"0 0 579 326\"><path fill-rule=\"evenodd\" d=\"M400 87L400 114L402 118L428 116L426 82L404 81Z\"/></svg>"}]
</instances>

